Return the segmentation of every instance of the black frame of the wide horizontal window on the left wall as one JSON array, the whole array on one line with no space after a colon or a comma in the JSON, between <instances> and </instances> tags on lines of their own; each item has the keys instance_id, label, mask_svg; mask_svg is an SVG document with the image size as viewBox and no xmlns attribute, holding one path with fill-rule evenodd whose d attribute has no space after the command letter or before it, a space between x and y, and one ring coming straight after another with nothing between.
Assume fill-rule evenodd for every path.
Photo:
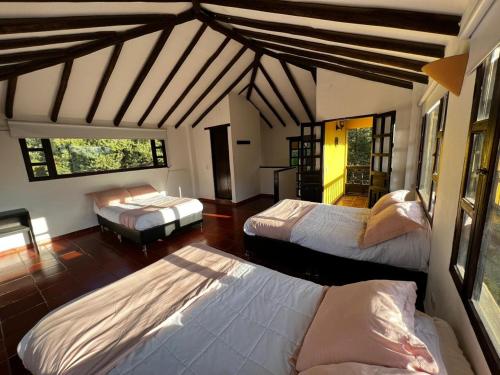
<instances>
[{"instance_id":1,"label":"black frame of the wide horizontal window on the left wall","mask_svg":"<svg viewBox=\"0 0 500 375\"><path fill-rule=\"evenodd\" d=\"M93 172L83 172L83 173L71 173L71 174L58 174L56 164L54 161L54 155L52 152L52 146L50 143L50 139L48 138L35 138L40 139L42 143L42 147L30 148L26 143L25 138L19 139L19 144L21 146L21 153L23 155L24 165L26 167L26 172L28 174L28 180L30 182L36 181L47 181L47 180L57 180L61 178L73 178L73 177L83 177L83 176L92 176L99 174L108 174L108 173L118 173L118 172L129 172L129 171L138 171L143 169L158 169L158 168L168 168L168 157L167 151L165 147L164 139L150 139L151 142L151 156L153 158L153 165L147 167L133 167L133 168L121 168L121 169L112 169L105 171L93 171ZM159 144L157 144L159 142ZM162 151L162 155L159 155L158 150ZM36 162L33 163L31 161L30 152L43 152L45 161L44 162ZM160 162L163 160L163 163ZM35 166L46 166L48 170L48 176L37 177L33 173L33 167Z\"/></svg>"}]
</instances>

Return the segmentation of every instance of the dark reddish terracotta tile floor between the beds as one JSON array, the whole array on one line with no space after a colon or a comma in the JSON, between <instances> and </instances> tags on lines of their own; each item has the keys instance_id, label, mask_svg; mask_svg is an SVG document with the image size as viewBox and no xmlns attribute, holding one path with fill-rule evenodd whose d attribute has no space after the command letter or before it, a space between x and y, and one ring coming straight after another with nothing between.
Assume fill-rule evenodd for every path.
<instances>
[{"instance_id":1,"label":"dark reddish terracotta tile floor between the beds","mask_svg":"<svg viewBox=\"0 0 500 375\"><path fill-rule=\"evenodd\" d=\"M273 204L258 198L241 206L204 203L203 228L185 228L152 245L145 256L130 242L97 230L0 256L0 374L25 374L16 347L52 309L126 276L179 248L204 242L244 257L243 223Z\"/></svg>"}]
</instances>

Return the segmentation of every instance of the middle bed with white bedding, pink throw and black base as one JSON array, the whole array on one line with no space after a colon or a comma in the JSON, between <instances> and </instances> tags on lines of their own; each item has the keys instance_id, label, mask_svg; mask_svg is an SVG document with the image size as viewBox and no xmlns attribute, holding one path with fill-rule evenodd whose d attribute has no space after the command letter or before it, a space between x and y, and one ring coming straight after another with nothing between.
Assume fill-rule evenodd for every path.
<instances>
[{"instance_id":1,"label":"middle bed with white bedding, pink throw and black base","mask_svg":"<svg viewBox=\"0 0 500 375\"><path fill-rule=\"evenodd\" d=\"M415 281L422 307L431 233L423 211L421 227L361 248L371 214L367 208L285 199L245 222L245 250L258 263L325 284Z\"/></svg>"}]
</instances>

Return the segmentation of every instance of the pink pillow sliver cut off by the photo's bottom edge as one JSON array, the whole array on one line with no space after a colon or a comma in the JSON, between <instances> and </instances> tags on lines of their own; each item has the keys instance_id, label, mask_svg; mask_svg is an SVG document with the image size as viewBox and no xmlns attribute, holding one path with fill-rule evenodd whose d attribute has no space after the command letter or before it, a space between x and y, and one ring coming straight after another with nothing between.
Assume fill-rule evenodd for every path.
<instances>
[{"instance_id":1,"label":"pink pillow sliver cut off by the photo's bottom edge","mask_svg":"<svg viewBox=\"0 0 500 375\"><path fill-rule=\"evenodd\" d=\"M365 365L363 363L346 362L334 365L311 367L299 375L426 375L426 372L415 372L400 368Z\"/></svg>"}]
</instances>

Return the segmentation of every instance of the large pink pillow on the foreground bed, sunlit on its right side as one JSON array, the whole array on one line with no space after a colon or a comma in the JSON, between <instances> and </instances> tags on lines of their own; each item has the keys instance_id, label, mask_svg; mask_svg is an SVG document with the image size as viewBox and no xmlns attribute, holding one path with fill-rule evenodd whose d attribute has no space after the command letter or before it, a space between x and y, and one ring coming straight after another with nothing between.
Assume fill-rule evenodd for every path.
<instances>
[{"instance_id":1,"label":"large pink pillow on the foreground bed, sunlit on its right side","mask_svg":"<svg viewBox=\"0 0 500 375\"><path fill-rule=\"evenodd\" d=\"M330 288L297 358L297 371L359 362L437 374L431 353L414 334L416 285L371 280Z\"/></svg>"}]
</instances>

